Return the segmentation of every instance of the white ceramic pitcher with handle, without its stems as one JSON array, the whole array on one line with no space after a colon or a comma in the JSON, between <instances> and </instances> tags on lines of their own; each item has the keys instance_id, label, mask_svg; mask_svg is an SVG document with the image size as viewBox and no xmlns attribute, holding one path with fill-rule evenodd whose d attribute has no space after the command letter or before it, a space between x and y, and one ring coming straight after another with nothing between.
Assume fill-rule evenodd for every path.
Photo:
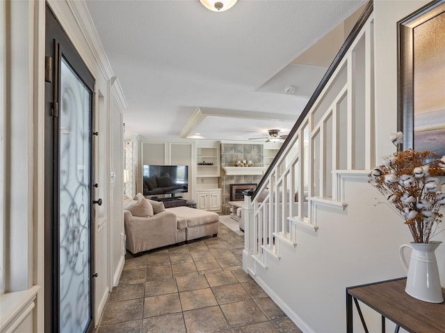
<instances>
[{"instance_id":1,"label":"white ceramic pitcher with handle, without its stems","mask_svg":"<svg viewBox=\"0 0 445 333\"><path fill-rule=\"evenodd\" d=\"M405 291L408 295L424 302L442 303L442 287L440 285L439 269L434 251L442 241L430 243L403 244L399 255L403 268L407 273ZM408 266L403 250L412 248L410 266Z\"/></svg>"}]
</instances>

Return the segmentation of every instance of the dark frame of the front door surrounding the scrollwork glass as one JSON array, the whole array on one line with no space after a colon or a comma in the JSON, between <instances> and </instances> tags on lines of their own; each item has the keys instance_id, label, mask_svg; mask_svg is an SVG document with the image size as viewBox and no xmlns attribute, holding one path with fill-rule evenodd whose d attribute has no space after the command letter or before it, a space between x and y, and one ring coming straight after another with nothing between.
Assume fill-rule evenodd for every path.
<instances>
[{"instance_id":1,"label":"dark frame of the front door surrounding the scrollwork glass","mask_svg":"<svg viewBox=\"0 0 445 333\"><path fill-rule=\"evenodd\" d=\"M60 105L60 73L59 64L61 55L76 69L76 74L79 75L83 84L90 89L91 104L90 104L90 185L93 184L94 159L93 159L93 115L94 115L94 85L95 78L92 76L85 62L83 62L79 53L77 53L72 42L67 37L65 31L60 26L56 16L46 5L45 10L45 28L46 28L46 42L45 42L45 58L51 57L48 60L51 65L46 65L45 68L51 67L51 73L45 75L45 101L44 101L44 332L58 333L60 332L60 304L59 304L59 205L58 205L58 191L59 191L59 118L58 105ZM42 64L43 65L43 64ZM58 105L57 105L58 103ZM92 205L93 188L90 188L90 202ZM93 210L90 207L90 321L86 327L86 332L92 332L94 329L94 283L92 272L94 271L94 228L93 228Z\"/></svg>"}]
</instances>

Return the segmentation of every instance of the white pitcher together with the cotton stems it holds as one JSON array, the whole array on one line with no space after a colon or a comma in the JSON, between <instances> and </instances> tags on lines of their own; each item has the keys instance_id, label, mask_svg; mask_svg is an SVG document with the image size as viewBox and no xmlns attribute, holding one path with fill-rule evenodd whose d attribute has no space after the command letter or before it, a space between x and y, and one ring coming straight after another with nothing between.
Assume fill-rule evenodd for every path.
<instances>
[{"instance_id":1,"label":"white pitcher together with the cotton stems it holds","mask_svg":"<svg viewBox=\"0 0 445 333\"><path fill-rule=\"evenodd\" d=\"M396 146L403 143L403 133L391 135ZM442 222L440 209L445 193L439 183L444 174L445 156L436 158L430 151L407 149L383 157L382 165L369 173L369 183L387 198L391 207L410 228L414 239L399 248L407 282L408 295L425 302L443 302L442 287L434 250L442 241L430 241ZM442 230L444 231L444 230ZM410 265L403 256L404 248L412 248Z\"/></svg>"}]
</instances>

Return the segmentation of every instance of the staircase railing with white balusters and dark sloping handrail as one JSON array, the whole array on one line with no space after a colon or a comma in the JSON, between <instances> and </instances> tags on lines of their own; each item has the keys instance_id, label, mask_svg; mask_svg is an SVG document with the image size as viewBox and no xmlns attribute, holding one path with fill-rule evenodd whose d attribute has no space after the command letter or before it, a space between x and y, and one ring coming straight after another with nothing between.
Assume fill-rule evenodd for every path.
<instances>
[{"instance_id":1,"label":"staircase railing with white balusters and dark sloping handrail","mask_svg":"<svg viewBox=\"0 0 445 333\"><path fill-rule=\"evenodd\" d=\"M243 266L267 268L299 228L316 232L321 205L344 209L339 176L375 164L373 7L332 62L252 198L245 198ZM251 200L252 199L252 200Z\"/></svg>"}]
</instances>

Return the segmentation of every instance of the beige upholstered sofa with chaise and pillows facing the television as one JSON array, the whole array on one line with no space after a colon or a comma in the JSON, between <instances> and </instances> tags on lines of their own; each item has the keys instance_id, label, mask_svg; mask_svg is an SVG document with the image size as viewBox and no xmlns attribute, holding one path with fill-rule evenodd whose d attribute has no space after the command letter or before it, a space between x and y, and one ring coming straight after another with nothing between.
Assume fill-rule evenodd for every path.
<instances>
[{"instance_id":1,"label":"beige upholstered sofa with chaise and pillows facing the television","mask_svg":"<svg viewBox=\"0 0 445 333\"><path fill-rule=\"evenodd\" d=\"M163 203L124 196L124 228L127 249L140 253L153 248L180 244L200 237L218 235L219 215L190 207L165 209Z\"/></svg>"}]
</instances>

